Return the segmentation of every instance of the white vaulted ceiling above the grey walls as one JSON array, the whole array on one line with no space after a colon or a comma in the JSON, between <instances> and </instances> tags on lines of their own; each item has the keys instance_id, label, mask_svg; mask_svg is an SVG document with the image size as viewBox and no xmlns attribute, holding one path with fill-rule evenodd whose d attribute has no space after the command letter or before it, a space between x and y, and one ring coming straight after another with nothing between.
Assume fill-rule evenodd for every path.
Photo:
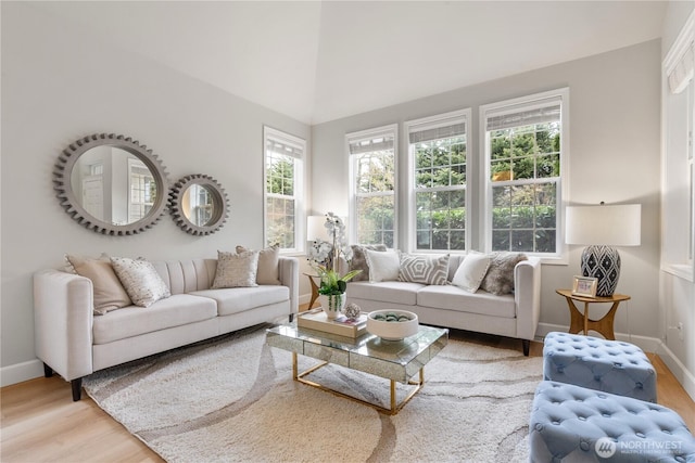
<instances>
[{"instance_id":1,"label":"white vaulted ceiling above the grey walls","mask_svg":"<svg viewBox=\"0 0 695 463\"><path fill-rule=\"evenodd\" d=\"M666 1L51 1L100 40L307 124L660 37Z\"/></svg>"}]
</instances>

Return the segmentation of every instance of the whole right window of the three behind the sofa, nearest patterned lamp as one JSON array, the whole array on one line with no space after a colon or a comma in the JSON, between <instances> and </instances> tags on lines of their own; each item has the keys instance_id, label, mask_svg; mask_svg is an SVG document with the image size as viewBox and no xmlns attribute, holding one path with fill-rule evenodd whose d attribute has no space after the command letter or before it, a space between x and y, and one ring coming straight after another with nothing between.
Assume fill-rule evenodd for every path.
<instances>
[{"instance_id":1,"label":"whole right window of the three behind the sofa, nearest patterned lamp","mask_svg":"<svg viewBox=\"0 0 695 463\"><path fill-rule=\"evenodd\" d=\"M481 106L485 248L559 255L568 89Z\"/></svg>"}]
</instances>

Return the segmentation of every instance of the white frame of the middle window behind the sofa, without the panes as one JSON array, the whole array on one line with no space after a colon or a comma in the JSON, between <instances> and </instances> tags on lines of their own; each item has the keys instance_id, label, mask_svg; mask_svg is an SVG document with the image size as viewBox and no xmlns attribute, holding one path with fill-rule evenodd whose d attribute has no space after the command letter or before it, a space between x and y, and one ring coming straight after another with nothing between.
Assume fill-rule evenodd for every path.
<instances>
[{"instance_id":1,"label":"white frame of the middle window behind the sofa, without the panes","mask_svg":"<svg viewBox=\"0 0 695 463\"><path fill-rule=\"evenodd\" d=\"M470 183L470 176L475 175L475 171L471 168L471 119L472 119L472 110L470 107L466 107L463 110L452 111L448 113L435 114L428 117L422 117L418 119L406 120L404 123L404 144L407 147L407 210L406 210L406 240L407 240L407 248L409 253L417 254L466 254L471 248L471 221L470 221L470 189L468 188ZM466 215L464 217L465 223L465 242L466 246L464 249L418 249L417 247L417 193L421 190L418 190L415 185L415 152L414 152L414 143L410 143L410 133L417 131L424 131L428 129L441 128L451 126L455 123L460 123L465 125L464 137L466 138L466 184L463 188L432 188L426 189L430 191L460 191L465 192L465 209ZM450 137L451 138L451 137Z\"/></svg>"}]
</instances>

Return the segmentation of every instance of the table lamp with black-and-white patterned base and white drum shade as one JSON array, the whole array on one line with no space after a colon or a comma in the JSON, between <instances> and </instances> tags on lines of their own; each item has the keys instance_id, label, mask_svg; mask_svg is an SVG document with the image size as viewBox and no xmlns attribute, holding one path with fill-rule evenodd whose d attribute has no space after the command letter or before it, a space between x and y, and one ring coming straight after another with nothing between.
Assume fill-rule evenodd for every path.
<instances>
[{"instance_id":1,"label":"table lamp with black-and-white patterned base and white drum shade","mask_svg":"<svg viewBox=\"0 0 695 463\"><path fill-rule=\"evenodd\" d=\"M567 207L567 244L587 245L581 271L597 279L596 296L609 297L620 278L620 254L614 246L639 246L642 205Z\"/></svg>"}]
</instances>

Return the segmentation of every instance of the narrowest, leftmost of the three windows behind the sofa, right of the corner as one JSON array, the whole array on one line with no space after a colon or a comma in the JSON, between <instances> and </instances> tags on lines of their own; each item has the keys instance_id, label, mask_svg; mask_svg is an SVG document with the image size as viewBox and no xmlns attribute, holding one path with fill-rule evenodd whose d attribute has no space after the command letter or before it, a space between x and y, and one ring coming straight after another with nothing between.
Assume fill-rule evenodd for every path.
<instances>
[{"instance_id":1,"label":"narrowest, leftmost of the three windows behind the sofa, right of the corner","mask_svg":"<svg viewBox=\"0 0 695 463\"><path fill-rule=\"evenodd\" d=\"M395 125L346 138L351 165L351 241L395 247Z\"/></svg>"}]
</instances>

